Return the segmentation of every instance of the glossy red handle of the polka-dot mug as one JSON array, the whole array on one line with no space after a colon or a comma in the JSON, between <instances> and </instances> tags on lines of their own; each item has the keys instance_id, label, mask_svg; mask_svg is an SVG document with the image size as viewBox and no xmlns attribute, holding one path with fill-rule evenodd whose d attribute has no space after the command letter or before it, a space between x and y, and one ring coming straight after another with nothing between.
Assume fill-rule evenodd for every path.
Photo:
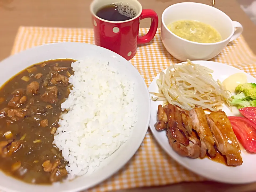
<instances>
[{"instance_id":1,"label":"glossy red handle of the polka-dot mug","mask_svg":"<svg viewBox=\"0 0 256 192\"><path fill-rule=\"evenodd\" d=\"M151 9L143 9L141 13L141 19L151 18L151 25L149 32L146 35L138 37L138 44L149 43L157 33L158 16L157 13Z\"/></svg>"}]
</instances>

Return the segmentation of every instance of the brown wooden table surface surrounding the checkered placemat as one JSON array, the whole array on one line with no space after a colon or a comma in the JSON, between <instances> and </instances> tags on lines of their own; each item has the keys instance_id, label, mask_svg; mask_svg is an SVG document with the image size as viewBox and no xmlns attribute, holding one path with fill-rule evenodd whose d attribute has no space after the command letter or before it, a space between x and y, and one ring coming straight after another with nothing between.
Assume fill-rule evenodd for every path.
<instances>
[{"instance_id":1,"label":"brown wooden table surface surrounding the checkered placemat","mask_svg":"<svg viewBox=\"0 0 256 192\"><path fill-rule=\"evenodd\" d=\"M103 0L104 1L104 0ZM139 0L144 9L154 9L161 20L166 7L178 3L189 2L179 0ZM246 0L247 1L247 0ZM250 0L249 0L250 1ZM210 5L212 0L195 0ZM243 36L256 54L256 26L242 11L236 0L215 0L218 9L225 12L233 21L240 22ZM0 0L0 60L10 55L14 37L19 26L47 27L87 27L91 28L89 11L90 0ZM141 21L140 27L149 27L150 20ZM160 27L161 22L159 22ZM239 174L239 173L237 173ZM120 190L141 191L256 191L256 183L247 185L227 185L215 182L178 183L175 185L140 189Z\"/></svg>"}]
</instances>

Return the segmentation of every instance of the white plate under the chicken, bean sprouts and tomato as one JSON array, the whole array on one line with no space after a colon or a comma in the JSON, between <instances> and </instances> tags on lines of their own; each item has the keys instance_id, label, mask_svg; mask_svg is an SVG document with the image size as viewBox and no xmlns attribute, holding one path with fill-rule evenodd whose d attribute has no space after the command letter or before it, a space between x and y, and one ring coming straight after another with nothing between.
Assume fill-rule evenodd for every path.
<instances>
[{"instance_id":1,"label":"white plate under the chicken, bean sprouts and tomato","mask_svg":"<svg viewBox=\"0 0 256 192\"><path fill-rule=\"evenodd\" d=\"M213 62L213 61L192 61L192 62L214 70L212 74L213 78L215 80L219 79L221 82L234 73L245 73L237 68L234 68L222 63ZM164 71L166 72L166 70ZM252 77L247 73L245 74L247 75L248 82L256 83L256 79L254 77ZM156 80L158 78L159 78L159 74L151 82L149 86L149 92L158 93L158 87L156 84ZM151 96L153 95L150 95L150 97ZM166 151L166 153L170 155L170 157L172 157L182 166L193 171L194 173L197 173L203 177L206 177L214 181L219 181L224 183L249 183L249 182L256 181L256 165L255 165L256 154L249 154L243 149L241 150L243 164L237 167L226 166L221 163L211 161L208 158L191 159L188 157L181 157L180 155L178 155L171 148L166 136L166 131L165 130L157 131L154 127L154 124L157 122L157 107L159 104L163 104L163 102L151 100L151 117L150 117L149 127L155 139L157 140L157 142ZM227 116L239 115L239 111L235 107L232 107L233 113L226 106L223 106L222 110L227 114Z\"/></svg>"}]
</instances>

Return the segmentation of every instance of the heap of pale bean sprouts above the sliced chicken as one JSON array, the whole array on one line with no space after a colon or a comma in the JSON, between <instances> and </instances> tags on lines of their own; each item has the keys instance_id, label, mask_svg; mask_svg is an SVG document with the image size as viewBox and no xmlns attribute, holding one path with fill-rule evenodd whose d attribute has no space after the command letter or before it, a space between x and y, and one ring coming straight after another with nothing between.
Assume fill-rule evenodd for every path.
<instances>
[{"instance_id":1,"label":"heap of pale bean sprouts above the sliced chicken","mask_svg":"<svg viewBox=\"0 0 256 192\"><path fill-rule=\"evenodd\" d=\"M225 103L230 107L230 93L219 80L212 77L213 70L192 63L172 65L166 73L161 72L157 80L159 93L151 93L153 101L165 101L182 109L191 110L195 106L211 111Z\"/></svg>"}]
</instances>

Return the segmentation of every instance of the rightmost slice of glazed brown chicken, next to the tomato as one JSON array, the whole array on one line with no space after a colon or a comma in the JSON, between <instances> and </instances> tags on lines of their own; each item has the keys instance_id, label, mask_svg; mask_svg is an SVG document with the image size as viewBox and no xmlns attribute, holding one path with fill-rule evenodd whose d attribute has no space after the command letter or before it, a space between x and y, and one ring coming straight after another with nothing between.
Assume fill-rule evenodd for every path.
<instances>
[{"instance_id":1,"label":"rightmost slice of glazed brown chicken, next to the tomato","mask_svg":"<svg viewBox=\"0 0 256 192\"><path fill-rule=\"evenodd\" d=\"M225 112L212 112L207 115L207 121L213 133L218 151L227 158L227 165L242 165L241 149Z\"/></svg>"}]
</instances>

